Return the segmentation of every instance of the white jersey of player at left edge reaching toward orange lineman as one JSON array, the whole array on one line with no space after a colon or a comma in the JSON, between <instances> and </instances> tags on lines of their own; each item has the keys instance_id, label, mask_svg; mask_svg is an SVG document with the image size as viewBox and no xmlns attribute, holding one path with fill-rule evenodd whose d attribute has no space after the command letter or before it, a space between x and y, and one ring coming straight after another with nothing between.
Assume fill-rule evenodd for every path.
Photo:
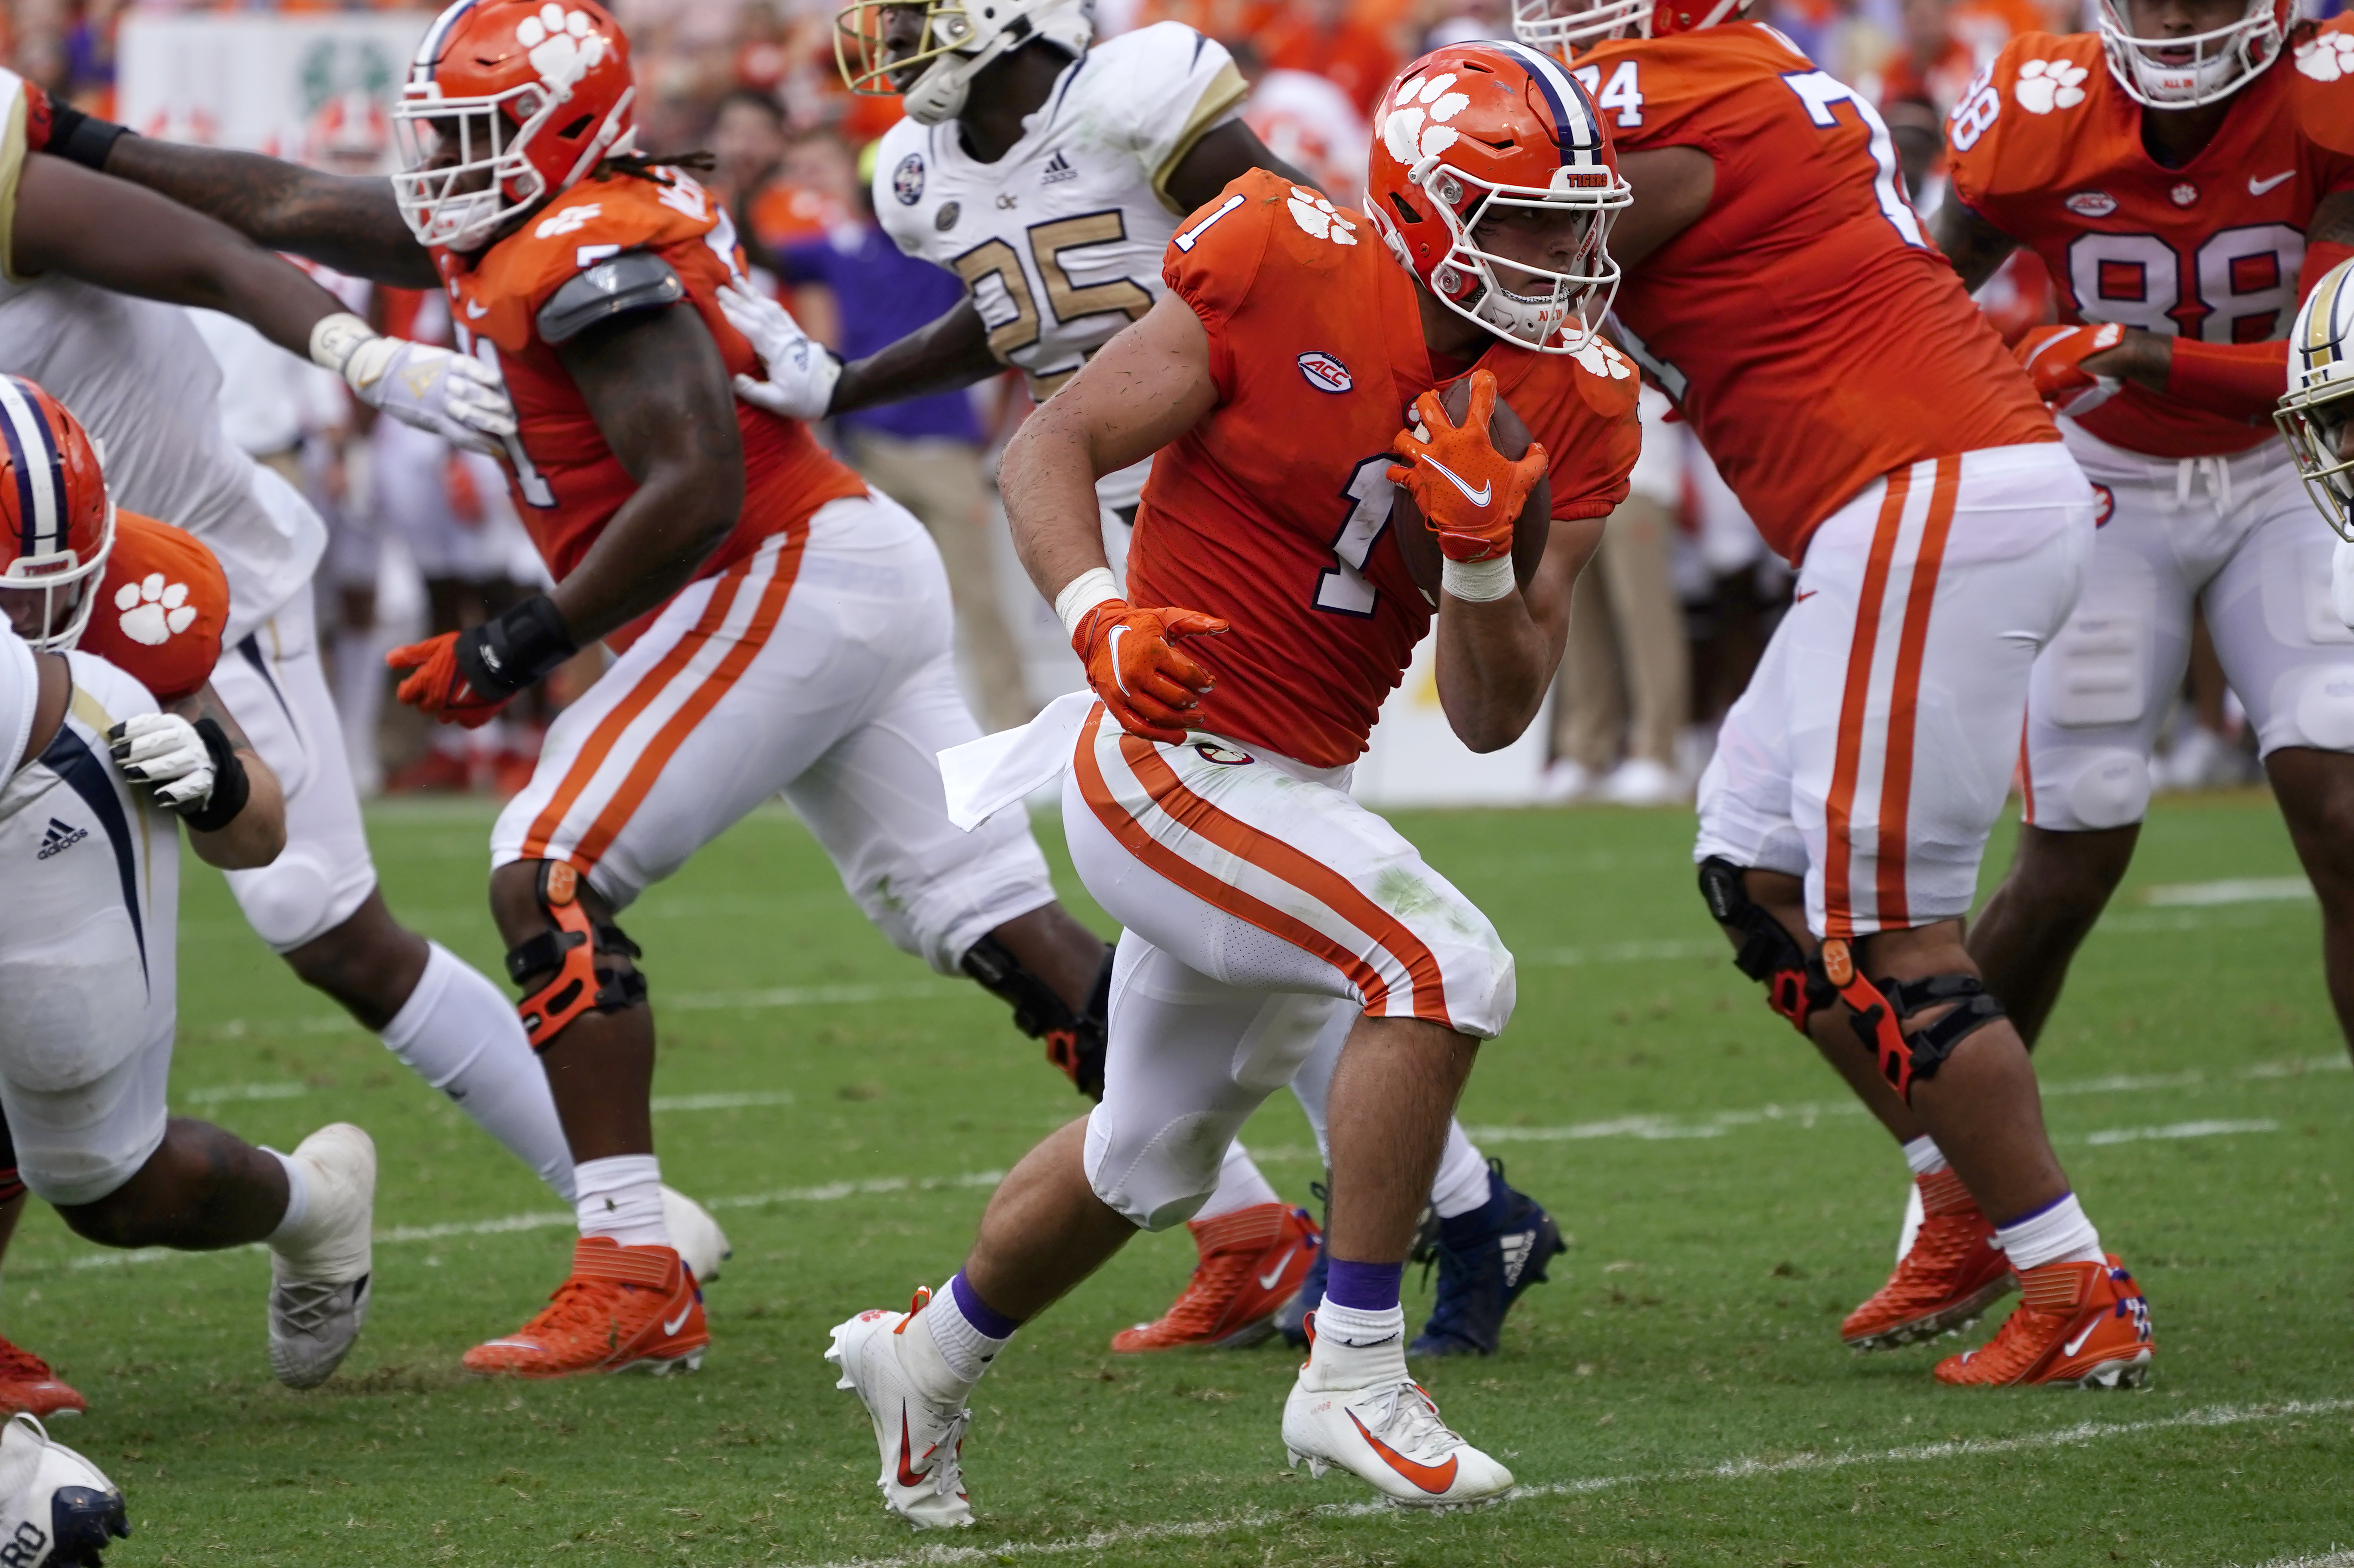
<instances>
[{"instance_id":1,"label":"white jersey of player at left edge reaching toward orange lineman","mask_svg":"<svg viewBox=\"0 0 2354 1568\"><path fill-rule=\"evenodd\" d=\"M231 644L311 581L327 529L257 487L221 433L221 369L177 306L7 270L24 174L24 80L0 71L0 371L38 381L99 442L115 503L188 529L228 576ZM271 475L275 480L275 475Z\"/></svg>"}]
</instances>

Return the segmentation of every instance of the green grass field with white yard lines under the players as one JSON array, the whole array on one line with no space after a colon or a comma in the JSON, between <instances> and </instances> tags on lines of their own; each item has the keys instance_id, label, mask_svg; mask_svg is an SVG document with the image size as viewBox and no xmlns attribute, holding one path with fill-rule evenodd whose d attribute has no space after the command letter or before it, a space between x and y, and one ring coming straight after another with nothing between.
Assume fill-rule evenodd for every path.
<instances>
[{"instance_id":1,"label":"green grass field with white yard lines under the players","mask_svg":"<svg viewBox=\"0 0 2354 1568\"><path fill-rule=\"evenodd\" d=\"M487 823L372 818L393 907L497 973ZM1499 1356L1427 1368L1450 1422L1523 1481L1502 1507L1391 1514L1349 1476L1288 1472L1295 1359L1274 1345L1113 1359L1106 1338L1184 1281L1179 1234L1130 1246L979 1387L977 1530L890 1519L866 1422L819 1361L826 1328L946 1279L993 1173L1080 1103L996 1001L883 943L784 813L629 917L661 1018L664 1168L734 1239L699 1375L459 1373L556 1286L570 1218L301 990L205 870L181 917L174 1110L275 1147L330 1119L374 1133L367 1335L332 1385L292 1394L264 1356L257 1251L108 1255L45 1211L0 1321L89 1396L61 1436L129 1493L137 1537L113 1561L132 1566L2177 1568L2354 1542L2354 1074L2314 905L2265 884L2298 875L2267 799L2154 816L2039 1056L2062 1159L2152 1302L2137 1394L1940 1389L1928 1368L1954 1340L1841 1349L1838 1316L1888 1269L1904 1168L1725 961L1685 816L1401 825L1518 952L1521 1011L1464 1121L1575 1237ZM2227 879L2246 886L2177 891ZM1318 1168L1290 1098L1250 1140L1306 1201ZM1408 1286L1419 1321L1427 1288Z\"/></svg>"}]
</instances>

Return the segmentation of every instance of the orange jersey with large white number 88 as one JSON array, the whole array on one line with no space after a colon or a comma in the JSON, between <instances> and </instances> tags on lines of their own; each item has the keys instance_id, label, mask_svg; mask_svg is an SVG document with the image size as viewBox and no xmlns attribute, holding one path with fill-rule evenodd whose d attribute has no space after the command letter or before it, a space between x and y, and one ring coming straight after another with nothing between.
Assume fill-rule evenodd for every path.
<instances>
[{"instance_id":1,"label":"orange jersey with large white number 88","mask_svg":"<svg viewBox=\"0 0 2354 1568\"><path fill-rule=\"evenodd\" d=\"M2305 226L2354 188L2354 19L2295 28L2180 169L2142 146L2142 106L2090 33L2013 38L1954 108L1947 143L1954 200L2043 259L2062 322L2286 339ZM2163 458L2272 440L2269 416L2227 418L2130 381L2079 423Z\"/></svg>"}]
</instances>

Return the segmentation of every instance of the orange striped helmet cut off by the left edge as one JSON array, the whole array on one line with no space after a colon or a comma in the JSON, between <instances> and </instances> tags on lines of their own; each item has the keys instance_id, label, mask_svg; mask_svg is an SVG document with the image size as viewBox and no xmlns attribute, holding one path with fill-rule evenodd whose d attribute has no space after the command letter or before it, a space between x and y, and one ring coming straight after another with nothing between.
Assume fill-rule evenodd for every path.
<instances>
[{"instance_id":1,"label":"orange striped helmet cut off by the left edge","mask_svg":"<svg viewBox=\"0 0 2354 1568\"><path fill-rule=\"evenodd\" d=\"M89 625L115 548L99 447L66 404L24 376L0 376L0 590L9 618L35 649L71 649Z\"/></svg>"}]
</instances>

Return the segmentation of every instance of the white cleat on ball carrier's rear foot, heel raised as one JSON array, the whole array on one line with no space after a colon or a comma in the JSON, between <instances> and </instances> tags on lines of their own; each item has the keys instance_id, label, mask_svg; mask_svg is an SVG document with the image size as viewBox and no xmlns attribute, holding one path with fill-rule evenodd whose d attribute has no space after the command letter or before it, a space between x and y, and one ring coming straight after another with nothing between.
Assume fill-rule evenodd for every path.
<instances>
[{"instance_id":1,"label":"white cleat on ball carrier's rear foot, heel raised","mask_svg":"<svg viewBox=\"0 0 2354 1568\"><path fill-rule=\"evenodd\" d=\"M930 1291L916 1291L906 1312L873 1309L840 1324L826 1361L843 1368L843 1380L833 1387L857 1394L873 1422L876 1450L883 1455L883 1474L876 1479L883 1507L918 1530L949 1530L972 1523L972 1502L958 1469L972 1410L960 1396L944 1403L920 1387L956 1382L932 1333L916 1326L916 1314L930 1300Z\"/></svg>"}]
</instances>

